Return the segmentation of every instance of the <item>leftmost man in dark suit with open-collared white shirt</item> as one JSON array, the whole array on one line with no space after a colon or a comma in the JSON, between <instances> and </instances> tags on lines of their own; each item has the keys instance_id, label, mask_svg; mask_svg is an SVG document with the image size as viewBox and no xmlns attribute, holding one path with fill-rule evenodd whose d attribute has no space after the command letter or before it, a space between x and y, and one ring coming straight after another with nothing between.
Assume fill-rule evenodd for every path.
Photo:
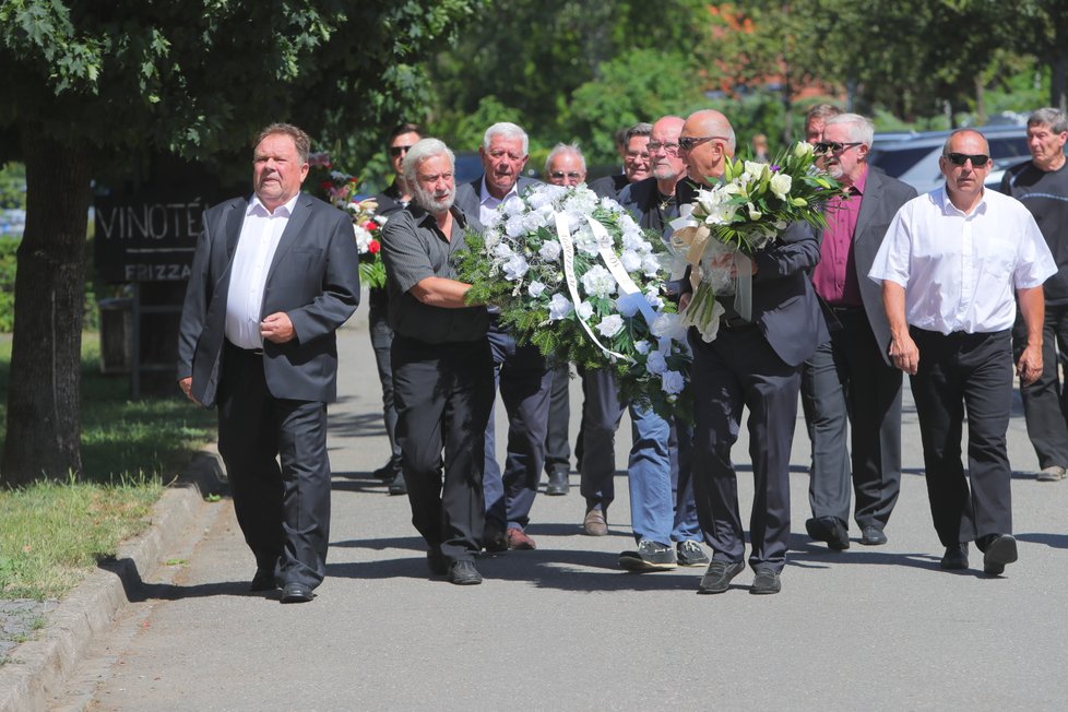
<instances>
[{"instance_id":1,"label":"leftmost man in dark suit with open-collared white shirt","mask_svg":"<svg viewBox=\"0 0 1068 712\"><path fill-rule=\"evenodd\" d=\"M251 590L281 585L282 603L311 601L327 572L334 332L359 301L352 221L300 192L309 144L294 126L266 127L252 198L204 213L178 342L181 390L218 406L218 451L256 556Z\"/></svg>"}]
</instances>

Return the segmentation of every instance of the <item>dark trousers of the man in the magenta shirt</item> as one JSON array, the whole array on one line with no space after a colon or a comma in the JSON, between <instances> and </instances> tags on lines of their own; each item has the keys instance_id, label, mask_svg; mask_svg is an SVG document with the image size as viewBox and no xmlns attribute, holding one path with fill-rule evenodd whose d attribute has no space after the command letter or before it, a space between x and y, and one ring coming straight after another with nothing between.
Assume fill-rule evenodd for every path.
<instances>
[{"instance_id":1,"label":"dark trousers of the man in the magenta shirt","mask_svg":"<svg viewBox=\"0 0 1068 712\"><path fill-rule=\"evenodd\" d=\"M841 328L802 367L812 442L808 501L812 517L849 525L852 489L857 525L881 530L901 486L902 373L879 355L863 308L836 316Z\"/></svg>"}]
</instances>

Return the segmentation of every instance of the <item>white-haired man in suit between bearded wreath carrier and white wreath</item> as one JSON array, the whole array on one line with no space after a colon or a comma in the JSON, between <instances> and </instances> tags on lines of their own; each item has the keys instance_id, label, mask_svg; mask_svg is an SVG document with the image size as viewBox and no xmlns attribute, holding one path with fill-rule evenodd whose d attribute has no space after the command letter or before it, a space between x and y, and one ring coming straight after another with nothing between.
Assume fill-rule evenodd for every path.
<instances>
[{"instance_id":1,"label":"white-haired man in suit between bearded wreath carrier and white wreath","mask_svg":"<svg viewBox=\"0 0 1068 712\"><path fill-rule=\"evenodd\" d=\"M485 174L456 189L456 206L486 224L499 205L519 200L532 186L538 185L539 181L521 176L529 158L527 149L526 132L514 123L495 123L486 129L478 149ZM497 323L495 313L490 313L489 344L501 401L508 411L508 456L501 473L490 414L483 477L486 495L483 543L488 551L533 549L537 545L525 529L545 464L553 370L536 346L518 346L512 335Z\"/></svg>"}]
</instances>

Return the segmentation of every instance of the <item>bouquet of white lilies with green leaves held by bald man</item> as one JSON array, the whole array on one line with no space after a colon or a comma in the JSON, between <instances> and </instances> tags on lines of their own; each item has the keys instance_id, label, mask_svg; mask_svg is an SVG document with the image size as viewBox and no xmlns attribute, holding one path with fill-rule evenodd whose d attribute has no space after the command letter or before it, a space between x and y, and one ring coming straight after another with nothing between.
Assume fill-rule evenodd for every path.
<instances>
[{"instance_id":1,"label":"bouquet of white lilies with green leaves held by bald man","mask_svg":"<svg viewBox=\"0 0 1068 712\"><path fill-rule=\"evenodd\" d=\"M842 195L838 182L815 163L812 146L797 143L771 164L727 161L723 182L699 190L672 222L672 247L691 266L693 297L683 323L713 341L724 309L716 296L735 294L744 319L751 313L750 256L779 237L790 223L826 227L822 206Z\"/></svg>"}]
</instances>

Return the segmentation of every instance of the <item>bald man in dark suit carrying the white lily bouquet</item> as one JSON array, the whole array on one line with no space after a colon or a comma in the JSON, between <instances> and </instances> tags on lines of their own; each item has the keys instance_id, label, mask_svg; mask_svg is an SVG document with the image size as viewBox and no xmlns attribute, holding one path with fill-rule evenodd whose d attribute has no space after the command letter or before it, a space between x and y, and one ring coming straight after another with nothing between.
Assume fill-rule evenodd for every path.
<instances>
[{"instance_id":1,"label":"bald man in dark suit carrying the white lily bouquet","mask_svg":"<svg viewBox=\"0 0 1068 712\"><path fill-rule=\"evenodd\" d=\"M679 149L687 178L676 189L679 204L711 186L734 155L735 137L719 111L686 119ZM745 569L745 533L731 448L738 438L743 407L749 408L749 452L753 505L749 520L756 572L751 593L779 593L779 573L790 544L790 449L797 414L800 366L828 340L827 325L808 271L819 260L814 230L794 225L751 256L752 312L745 319L734 300L719 333L705 342L690 329L693 348L693 490L698 515L714 554L699 593L723 593ZM685 297L684 297L685 301Z\"/></svg>"}]
</instances>

